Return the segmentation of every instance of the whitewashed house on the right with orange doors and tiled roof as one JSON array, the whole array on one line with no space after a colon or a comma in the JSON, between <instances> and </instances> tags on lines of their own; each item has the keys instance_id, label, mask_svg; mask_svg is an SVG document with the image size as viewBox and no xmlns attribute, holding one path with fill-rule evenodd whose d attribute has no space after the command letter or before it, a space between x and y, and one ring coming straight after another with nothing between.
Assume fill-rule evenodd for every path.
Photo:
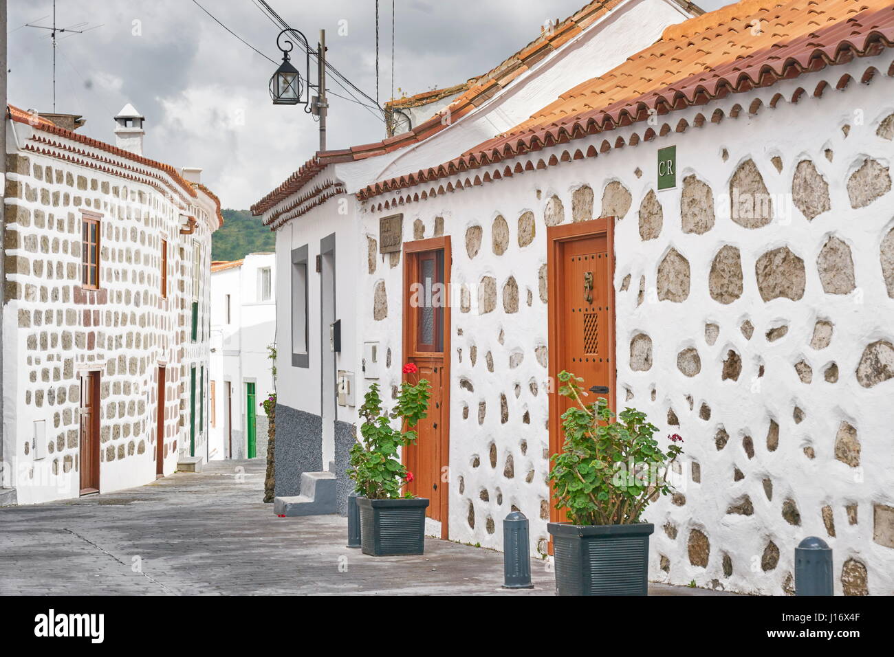
<instances>
[{"instance_id":1,"label":"whitewashed house on the right with orange doors and tiled roof","mask_svg":"<svg viewBox=\"0 0 894 657\"><path fill-rule=\"evenodd\" d=\"M440 534L500 549L518 509L545 554L552 391L573 371L684 437L678 493L646 514L653 577L791 593L794 548L819 535L837 593L892 594L894 7L746 0L654 36L623 22L640 5L607 6L474 109L453 101L446 127L418 126L419 143L317 154L256 206L281 268L310 281L308 306L281 278L280 334L318 307L323 227L365 238L335 290L341 356L311 315L311 369L293 353L289 375L315 384L322 355L324 375L355 373L357 403L416 362L438 404L404 459ZM600 69L580 43L600 21L645 43ZM548 98L543 67L561 85ZM509 111L527 95L537 107ZM414 282L443 282L450 303L411 307ZM354 421L337 409L336 456ZM277 428L316 453L307 428Z\"/></svg>"}]
</instances>

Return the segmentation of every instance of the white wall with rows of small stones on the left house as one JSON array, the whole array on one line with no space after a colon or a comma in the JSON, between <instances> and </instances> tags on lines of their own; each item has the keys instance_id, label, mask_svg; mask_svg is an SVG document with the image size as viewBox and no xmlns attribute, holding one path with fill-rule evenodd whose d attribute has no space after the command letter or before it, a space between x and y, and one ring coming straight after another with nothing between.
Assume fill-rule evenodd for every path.
<instances>
[{"instance_id":1,"label":"white wall with rows of small stones on the left house","mask_svg":"<svg viewBox=\"0 0 894 657\"><path fill-rule=\"evenodd\" d=\"M28 129L14 128L27 143ZM63 147L51 152L69 147L63 138L55 142ZM100 492L146 484L156 477L159 364L167 366L165 474L189 450L189 368L204 366L207 375L215 204L200 191L174 202L154 186L16 151L15 143L7 140L13 153L5 189L4 457L12 477L4 483L17 488L19 503L79 494L80 375L99 370ZM101 215L99 292L80 288L82 210ZM181 214L198 220L194 234L180 234ZM163 237L168 299L160 298ZM190 341L193 240L203 258L196 342ZM197 407L198 389L197 382ZM207 383L204 391L207 396ZM207 424L207 401L205 409ZM36 422L45 424L47 442L38 459ZM197 430L197 456L205 455L206 436Z\"/></svg>"}]
</instances>

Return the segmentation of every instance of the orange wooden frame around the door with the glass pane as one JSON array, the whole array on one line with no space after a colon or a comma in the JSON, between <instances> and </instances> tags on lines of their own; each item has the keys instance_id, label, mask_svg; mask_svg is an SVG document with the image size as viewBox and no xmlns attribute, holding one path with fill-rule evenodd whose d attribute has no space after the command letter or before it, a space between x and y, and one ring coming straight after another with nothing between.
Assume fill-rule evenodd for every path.
<instances>
[{"instance_id":1,"label":"orange wooden frame around the door with the glass pane","mask_svg":"<svg viewBox=\"0 0 894 657\"><path fill-rule=\"evenodd\" d=\"M450 416L451 416L451 406L450 406L450 389L451 389L451 333L452 333L452 324L451 324L451 269L453 263L453 256L451 252L451 240L450 235L443 235L442 237L432 237L427 240L414 240L403 243L403 312L401 316L401 338L402 338L402 357L401 366L404 363L409 362L409 358L411 358L414 354L413 351L410 350L410 345L413 343L413 335L415 331L415 322L410 321L413 319L413 313L409 312L409 280L412 276L411 265L415 264L416 254L422 253L425 251L435 251L443 249L444 252L444 271L443 271L443 284L444 291L447 294L447 299L445 299L446 304L443 307L443 381L446 383L443 386L442 396L441 396L441 409L445 412L442 413L442 426L443 431L441 432L441 444L439 445L439 449L441 451L441 464L440 470L443 472L443 467L447 467L447 489L443 491L441 495L441 538L446 540L448 537L448 527L450 526L450 491L451 491L451 471L450 471ZM426 356L426 354L420 354L420 356ZM406 375L403 376L404 380L406 379ZM401 461L406 464L406 451L402 451L401 453Z\"/></svg>"}]
</instances>

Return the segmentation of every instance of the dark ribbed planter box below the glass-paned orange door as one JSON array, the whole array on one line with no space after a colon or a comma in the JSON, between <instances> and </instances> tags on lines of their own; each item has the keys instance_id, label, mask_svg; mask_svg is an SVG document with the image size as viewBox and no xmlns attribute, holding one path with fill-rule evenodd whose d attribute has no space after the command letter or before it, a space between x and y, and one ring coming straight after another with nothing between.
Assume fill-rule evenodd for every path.
<instances>
[{"instance_id":1,"label":"dark ribbed planter box below the glass-paned orange door","mask_svg":"<svg viewBox=\"0 0 894 657\"><path fill-rule=\"evenodd\" d=\"M367 500L360 507L360 551L374 557L422 554L426 537L426 498Z\"/></svg>"}]
</instances>

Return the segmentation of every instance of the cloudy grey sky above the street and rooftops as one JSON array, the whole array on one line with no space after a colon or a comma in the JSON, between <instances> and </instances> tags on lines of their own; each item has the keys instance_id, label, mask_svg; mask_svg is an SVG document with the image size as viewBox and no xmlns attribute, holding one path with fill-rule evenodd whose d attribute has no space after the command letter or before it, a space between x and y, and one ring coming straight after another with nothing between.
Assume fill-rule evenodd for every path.
<instances>
[{"instance_id":1,"label":"cloudy grey sky above the street and rooftops","mask_svg":"<svg viewBox=\"0 0 894 657\"><path fill-rule=\"evenodd\" d=\"M375 98L374 0L268 0ZM395 0L394 94L451 86L501 62L585 0ZM702 0L705 10L728 0ZM83 114L80 132L114 143L114 114L132 103L146 115L144 155L199 166L224 207L247 208L313 154L316 123L298 106L274 106L267 83L281 59L279 29L256 0L57 0L56 23L98 25L58 42L56 111ZM201 6L199 6L201 5ZM380 0L379 97L392 95L392 2ZM241 43L206 12L261 53ZM52 111L52 0L9 2L9 101ZM301 68L303 63L301 63ZM303 72L302 72L303 73ZM346 96L333 80L331 94ZM361 105L330 97L330 148L384 137Z\"/></svg>"}]
</instances>

